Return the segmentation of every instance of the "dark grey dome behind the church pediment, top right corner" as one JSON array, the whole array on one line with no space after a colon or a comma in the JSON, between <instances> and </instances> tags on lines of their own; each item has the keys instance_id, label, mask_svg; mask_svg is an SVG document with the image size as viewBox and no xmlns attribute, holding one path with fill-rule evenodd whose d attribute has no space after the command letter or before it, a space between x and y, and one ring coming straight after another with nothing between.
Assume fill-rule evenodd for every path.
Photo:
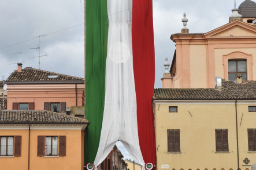
<instances>
[{"instance_id":1,"label":"dark grey dome behind the church pediment, top right corner","mask_svg":"<svg viewBox=\"0 0 256 170\"><path fill-rule=\"evenodd\" d=\"M256 2L245 0L238 8L243 18L256 18Z\"/></svg>"}]
</instances>

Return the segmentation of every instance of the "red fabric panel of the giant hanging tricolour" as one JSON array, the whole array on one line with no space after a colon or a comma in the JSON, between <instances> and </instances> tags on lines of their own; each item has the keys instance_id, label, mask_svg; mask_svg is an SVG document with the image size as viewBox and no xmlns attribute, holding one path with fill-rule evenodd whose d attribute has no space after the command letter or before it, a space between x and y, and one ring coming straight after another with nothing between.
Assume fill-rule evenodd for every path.
<instances>
[{"instance_id":1,"label":"red fabric panel of the giant hanging tricolour","mask_svg":"<svg viewBox=\"0 0 256 170\"><path fill-rule=\"evenodd\" d=\"M145 163L155 165L155 130L151 102L155 81L152 0L133 0L132 40L140 149Z\"/></svg>"}]
</instances>

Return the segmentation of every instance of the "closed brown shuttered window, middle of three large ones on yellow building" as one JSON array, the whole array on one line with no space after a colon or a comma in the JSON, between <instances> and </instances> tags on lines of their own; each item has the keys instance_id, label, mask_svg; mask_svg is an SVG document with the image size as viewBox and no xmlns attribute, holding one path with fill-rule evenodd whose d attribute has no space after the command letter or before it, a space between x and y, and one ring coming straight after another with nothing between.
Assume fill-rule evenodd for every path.
<instances>
[{"instance_id":1,"label":"closed brown shuttered window, middle of three large ones on yellow building","mask_svg":"<svg viewBox=\"0 0 256 170\"><path fill-rule=\"evenodd\" d=\"M228 152L228 129L215 129L216 152Z\"/></svg>"}]
</instances>

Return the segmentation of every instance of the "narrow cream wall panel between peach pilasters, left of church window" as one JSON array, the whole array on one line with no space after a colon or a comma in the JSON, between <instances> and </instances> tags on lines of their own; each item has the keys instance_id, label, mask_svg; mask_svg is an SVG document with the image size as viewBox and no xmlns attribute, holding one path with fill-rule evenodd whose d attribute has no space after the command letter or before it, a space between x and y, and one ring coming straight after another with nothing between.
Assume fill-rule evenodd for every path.
<instances>
[{"instance_id":1,"label":"narrow cream wall panel between peach pilasters, left of church window","mask_svg":"<svg viewBox=\"0 0 256 170\"><path fill-rule=\"evenodd\" d=\"M190 45L190 88L207 87L206 58L206 45Z\"/></svg>"}]
</instances>

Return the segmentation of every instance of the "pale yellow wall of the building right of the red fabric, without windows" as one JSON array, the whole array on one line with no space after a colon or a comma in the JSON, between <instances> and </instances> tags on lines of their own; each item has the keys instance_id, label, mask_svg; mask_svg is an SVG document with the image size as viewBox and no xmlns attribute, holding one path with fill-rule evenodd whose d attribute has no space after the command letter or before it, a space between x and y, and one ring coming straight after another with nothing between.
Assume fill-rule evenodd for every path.
<instances>
[{"instance_id":1,"label":"pale yellow wall of the building right of the red fabric, without windows","mask_svg":"<svg viewBox=\"0 0 256 170\"><path fill-rule=\"evenodd\" d=\"M154 104L158 170L238 169L235 101L154 101ZM256 106L256 101L238 101L237 105L241 170L248 168L242 166L245 158L250 160L249 165L256 163L256 152L248 152L247 129L256 129L256 113L248 112L251 105ZM169 113L169 106L177 106L178 112ZM180 130L181 152L167 152L167 129ZM215 129L228 129L229 152L216 152Z\"/></svg>"}]
</instances>

